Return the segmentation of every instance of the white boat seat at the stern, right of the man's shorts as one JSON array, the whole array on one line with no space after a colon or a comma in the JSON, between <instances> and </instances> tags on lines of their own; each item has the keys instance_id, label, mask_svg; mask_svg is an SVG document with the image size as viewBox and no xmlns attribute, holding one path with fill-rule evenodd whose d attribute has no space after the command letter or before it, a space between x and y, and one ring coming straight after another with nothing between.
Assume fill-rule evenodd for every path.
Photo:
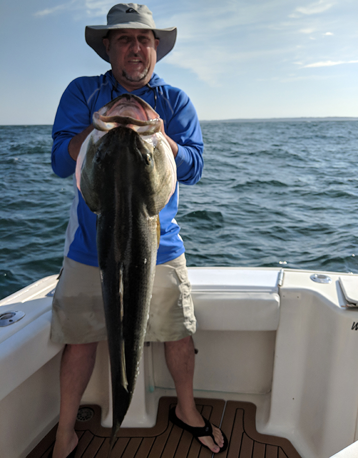
<instances>
[{"instance_id":1,"label":"white boat seat at the stern, right of the man's shorts","mask_svg":"<svg viewBox=\"0 0 358 458\"><path fill-rule=\"evenodd\" d=\"M275 331L280 269L190 267L200 331Z\"/></svg>"}]
</instances>

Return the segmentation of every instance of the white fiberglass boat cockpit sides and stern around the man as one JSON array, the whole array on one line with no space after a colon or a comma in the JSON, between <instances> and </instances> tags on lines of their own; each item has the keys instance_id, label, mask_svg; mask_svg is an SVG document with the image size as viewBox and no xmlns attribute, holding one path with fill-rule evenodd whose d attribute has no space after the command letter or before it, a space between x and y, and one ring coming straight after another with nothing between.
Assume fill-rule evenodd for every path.
<instances>
[{"instance_id":1,"label":"white fiberglass boat cockpit sides and stern around the man","mask_svg":"<svg viewBox=\"0 0 358 458\"><path fill-rule=\"evenodd\" d=\"M342 279L317 272L189 268L198 321L195 395L251 401L257 430L285 437L302 458L329 458L358 440L358 309L346 307ZM61 345L49 340L51 276L0 301L0 314L25 312L0 328L0 457L25 458L56 424ZM340 282L341 277L341 282ZM123 426L151 427L158 400L173 395L163 344L145 347ZM83 403L102 408L110 426L106 343L100 343ZM357 445L352 445L351 450ZM348 458L342 451L337 458ZM356 455L357 456L357 455Z\"/></svg>"}]
</instances>

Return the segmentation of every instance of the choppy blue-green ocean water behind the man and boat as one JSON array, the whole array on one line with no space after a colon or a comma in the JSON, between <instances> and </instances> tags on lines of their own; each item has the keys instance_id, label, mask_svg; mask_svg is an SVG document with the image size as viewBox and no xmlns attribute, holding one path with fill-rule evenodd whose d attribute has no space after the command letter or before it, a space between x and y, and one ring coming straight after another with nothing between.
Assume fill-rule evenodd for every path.
<instances>
[{"instance_id":1,"label":"choppy blue-green ocean water behind the man and boat","mask_svg":"<svg viewBox=\"0 0 358 458\"><path fill-rule=\"evenodd\" d=\"M358 272L358 120L202 122L204 172L180 185L190 266ZM51 126L0 126L0 298L55 274L73 199Z\"/></svg>"}]
</instances>

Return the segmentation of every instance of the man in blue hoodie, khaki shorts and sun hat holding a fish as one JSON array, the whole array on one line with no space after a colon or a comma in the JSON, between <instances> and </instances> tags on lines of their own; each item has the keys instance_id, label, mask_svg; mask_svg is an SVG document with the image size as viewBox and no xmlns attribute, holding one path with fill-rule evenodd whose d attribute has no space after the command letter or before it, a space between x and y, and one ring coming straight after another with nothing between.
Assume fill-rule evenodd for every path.
<instances>
[{"instance_id":1,"label":"man in blue hoodie, khaki shorts and sun hat holding a fish","mask_svg":"<svg viewBox=\"0 0 358 458\"><path fill-rule=\"evenodd\" d=\"M176 33L176 28L156 29L151 11L136 3L115 5L108 12L107 25L86 27L87 43L110 62L112 70L98 77L78 78L64 92L53 127L52 166L56 174L67 177L74 173L81 144L93 129L92 114L115 97L130 92L149 103L163 119L162 130L176 160L178 180L194 184L200 179L203 143L195 109L182 91L153 73L156 62L174 47ZM196 321L184 246L175 221L177 211L178 183L160 213L161 240L146 341L165 342L166 360L178 396L172 421L218 453L226 448L226 438L224 441L221 431L201 417L193 398L191 335ZM53 301L51 339L66 343L53 458L74 456L78 407L92 373L97 342L106 339L95 222L96 216L75 185L64 266Z\"/></svg>"}]
</instances>

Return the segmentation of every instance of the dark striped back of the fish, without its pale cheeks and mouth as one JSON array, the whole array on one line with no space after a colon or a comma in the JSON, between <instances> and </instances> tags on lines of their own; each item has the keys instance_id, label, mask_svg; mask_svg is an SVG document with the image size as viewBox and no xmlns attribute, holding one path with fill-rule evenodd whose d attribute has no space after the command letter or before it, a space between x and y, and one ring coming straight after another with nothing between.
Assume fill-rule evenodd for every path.
<instances>
[{"instance_id":1,"label":"dark striped back of the fish, without its pale cheeks and mouth","mask_svg":"<svg viewBox=\"0 0 358 458\"><path fill-rule=\"evenodd\" d=\"M132 129L117 127L103 137L97 150L106 171L101 179L105 186L98 194L103 207L97 219L97 250L111 361L112 436L132 398L157 259L157 217L150 216L145 205L148 186L132 186L140 183L138 171L143 175L141 169L151 167L145 160L147 152L133 148L142 143L138 139ZM108 154L111 144L120 145L120 154Z\"/></svg>"}]
</instances>

